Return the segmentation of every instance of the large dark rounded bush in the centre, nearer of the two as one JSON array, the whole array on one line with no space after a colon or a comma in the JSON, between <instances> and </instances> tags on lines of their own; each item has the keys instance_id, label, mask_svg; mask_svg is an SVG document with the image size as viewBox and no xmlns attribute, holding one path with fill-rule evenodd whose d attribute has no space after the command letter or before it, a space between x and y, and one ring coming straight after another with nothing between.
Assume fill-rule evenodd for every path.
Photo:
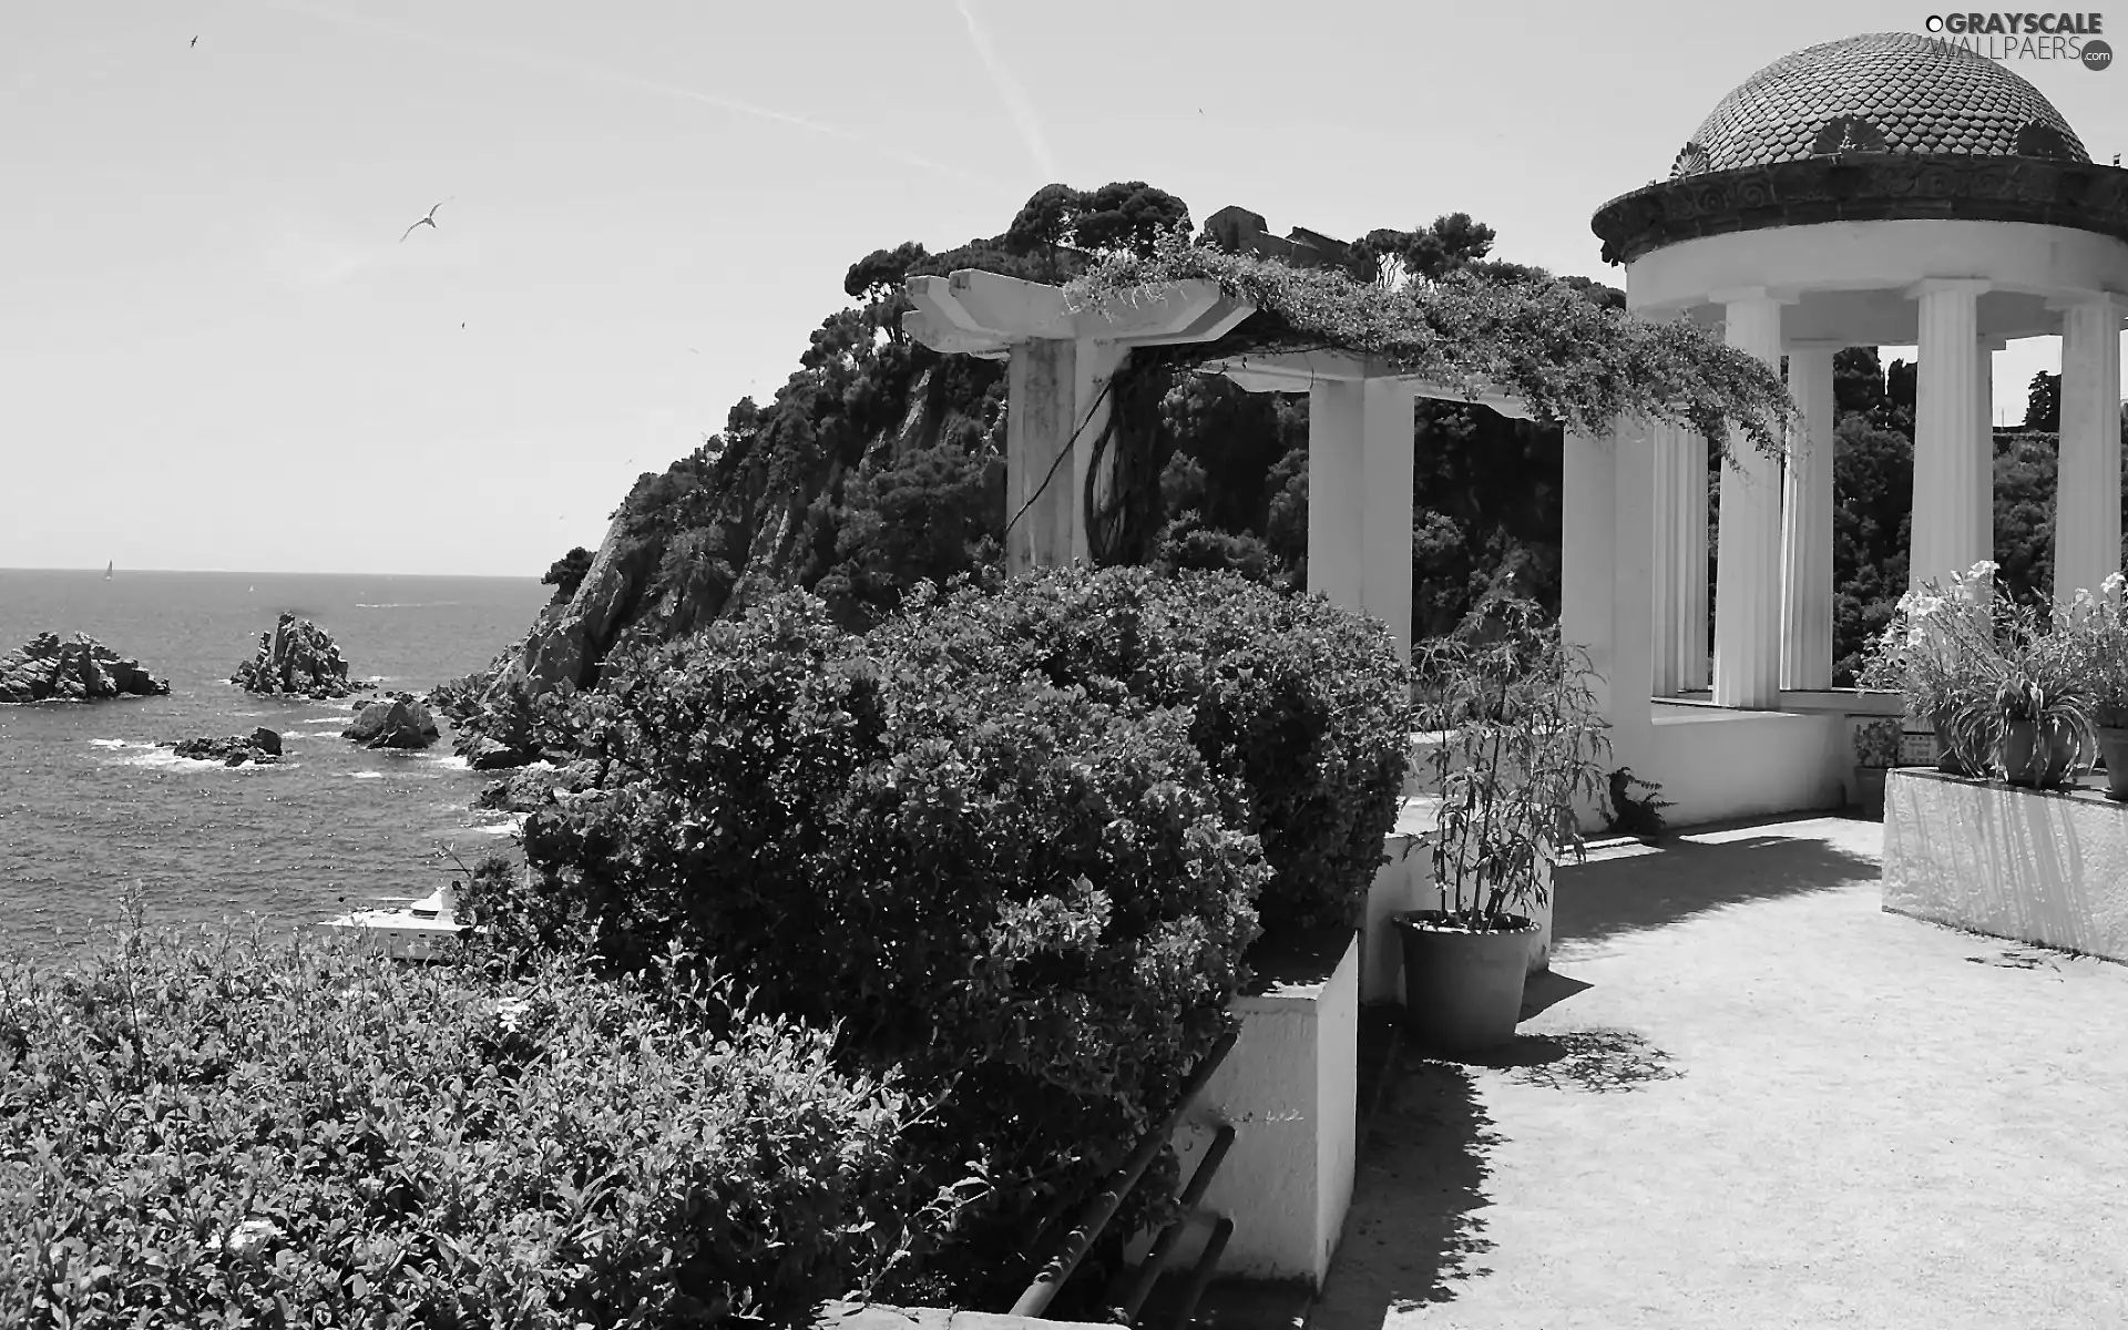
<instances>
[{"instance_id":1,"label":"large dark rounded bush in the centre, nearer of the two","mask_svg":"<svg viewBox=\"0 0 2128 1330\"><path fill-rule=\"evenodd\" d=\"M966 1183L951 1258L898 1279L981 1304L1026 1281L1028 1213L1113 1168L1226 1030L1268 870L1190 713L936 668L917 613L855 638L779 596L621 653L575 700L596 794L532 813L530 881L468 909L504 947L589 930L617 968L679 941L898 1064L926 1194Z\"/></svg>"}]
</instances>

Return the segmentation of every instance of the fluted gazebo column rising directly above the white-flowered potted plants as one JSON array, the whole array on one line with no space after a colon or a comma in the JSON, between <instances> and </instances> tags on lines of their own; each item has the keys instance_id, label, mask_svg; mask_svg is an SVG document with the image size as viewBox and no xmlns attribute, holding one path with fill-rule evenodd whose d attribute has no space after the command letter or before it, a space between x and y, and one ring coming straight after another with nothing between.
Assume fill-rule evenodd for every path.
<instances>
[{"instance_id":1,"label":"fluted gazebo column rising directly above the white-flowered potted plants","mask_svg":"<svg viewBox=\"0 0 2128 1330\"><path fill-rule=\"evenodd\" d=\"M1994 541L1990 485L1981 483L1985 426L1979 383L1979 296L1985 281L1951 277L1915 283L1919 302L1913 411L1913 541L1907 585L1949 583L1988 558ZM1990 445L1990 470L1992 445Z\"/></svg>"}]
</instances>

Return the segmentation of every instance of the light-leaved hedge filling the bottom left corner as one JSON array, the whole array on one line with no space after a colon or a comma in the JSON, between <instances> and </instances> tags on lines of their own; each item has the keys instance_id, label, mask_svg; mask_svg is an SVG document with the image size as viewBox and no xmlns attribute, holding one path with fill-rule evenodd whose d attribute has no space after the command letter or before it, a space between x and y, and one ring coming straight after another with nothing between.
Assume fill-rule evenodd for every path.
<instances>
[{"instance_id":1,"label":"light-leaved hedge filling the bottom left corner","mask_svg":"<svg viewBox=\"0 0 2128 1330\"><path fill-rule=\"evenodd\" d=\"M909 1213L900 1092L828 1053L560 964L134 932L15 968L0 1324L798 1321Z\"/></svg>"}]
</instances>

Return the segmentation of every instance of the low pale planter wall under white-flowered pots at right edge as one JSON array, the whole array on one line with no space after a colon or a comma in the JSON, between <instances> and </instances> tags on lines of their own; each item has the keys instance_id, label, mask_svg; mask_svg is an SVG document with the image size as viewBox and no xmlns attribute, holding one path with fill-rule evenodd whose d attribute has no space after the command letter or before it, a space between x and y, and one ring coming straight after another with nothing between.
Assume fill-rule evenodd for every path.
<instances>
[{"instance_id":1,"label":"low pale planter wall under white-flowered pots at right edge","mask_svg":"<svg viewBox=\"0 0 2128 1330\"><path fill-rule=\"evenodd\" d=\"M1896 768L1883 909L2128 962L2128 804Z\"/></svg>"}]
</instances>

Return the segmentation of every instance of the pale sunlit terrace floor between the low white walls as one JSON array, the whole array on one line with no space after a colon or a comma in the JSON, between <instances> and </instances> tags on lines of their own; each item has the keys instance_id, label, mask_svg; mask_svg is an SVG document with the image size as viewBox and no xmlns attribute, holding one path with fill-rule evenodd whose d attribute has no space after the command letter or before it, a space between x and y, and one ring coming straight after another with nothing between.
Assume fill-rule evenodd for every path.
<instances>
[{"instance_id":1,"label":"pale sunlit terrace floor between the low white walls","mask_svg":"<svg viewBox=\"0 0 2128 1330\"><path fill-rule=\"evenodd\" d=\"M1881 913L1881 832L1562 870L1517 1043L1392 1066L1313 1328L2128 1324L2128 966Z\"/></svg>"}]
</instances>

